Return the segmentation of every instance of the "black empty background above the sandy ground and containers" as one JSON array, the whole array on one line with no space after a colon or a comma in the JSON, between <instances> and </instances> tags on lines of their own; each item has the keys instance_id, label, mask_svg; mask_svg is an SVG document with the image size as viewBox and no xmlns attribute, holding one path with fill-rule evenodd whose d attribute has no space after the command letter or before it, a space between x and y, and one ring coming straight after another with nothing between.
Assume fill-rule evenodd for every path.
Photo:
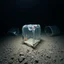
<instances>
[{"instance_id":1,"label":"black empty background above the sandy ground and containers","mask_svg":"<svg viewBox=\"0 0 64 64\"><path fill-rule=\"evenodd\" d=\"M0 35L11 27L24 24L57 25L64 31L64 2L61 0L2 0L0 1Z\"/></svg>"}]
</instances>

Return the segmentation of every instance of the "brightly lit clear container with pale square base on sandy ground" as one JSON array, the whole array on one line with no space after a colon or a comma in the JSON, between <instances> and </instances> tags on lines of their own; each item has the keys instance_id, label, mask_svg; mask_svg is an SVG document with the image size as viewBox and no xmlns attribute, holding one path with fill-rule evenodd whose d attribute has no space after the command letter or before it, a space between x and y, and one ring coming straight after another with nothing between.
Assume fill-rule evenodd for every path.
<instances>
[{"instance_id":1,"label":"brightly lit clear container with pale square base on sandy ground","mask_svg":"<svg viewBox=\"0 0 64 64\"><path fill-rule=\"evenodd\" d=\"M39 24L29 24L22 27L24 43L36 46L41 40L41 27Z\"/></svg>"}]
</instances>

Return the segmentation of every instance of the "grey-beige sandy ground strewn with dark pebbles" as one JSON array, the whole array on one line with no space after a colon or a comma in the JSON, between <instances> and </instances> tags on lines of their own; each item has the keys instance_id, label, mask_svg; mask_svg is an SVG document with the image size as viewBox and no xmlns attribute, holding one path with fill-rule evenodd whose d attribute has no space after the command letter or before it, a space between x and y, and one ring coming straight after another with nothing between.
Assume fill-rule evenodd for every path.
<instances>
[{"instance_id":1,"label":"grey-beige sandy ground strewn with dark pebbles","mask_svg":"<svg viewBox=\"0 0 64 64\"><path fill-rule=\"evenodd\" d=\"M0 39L0 64L64 64L64 36L41 36L33 49L21 36Z\"/></svg>"}]
</instances>

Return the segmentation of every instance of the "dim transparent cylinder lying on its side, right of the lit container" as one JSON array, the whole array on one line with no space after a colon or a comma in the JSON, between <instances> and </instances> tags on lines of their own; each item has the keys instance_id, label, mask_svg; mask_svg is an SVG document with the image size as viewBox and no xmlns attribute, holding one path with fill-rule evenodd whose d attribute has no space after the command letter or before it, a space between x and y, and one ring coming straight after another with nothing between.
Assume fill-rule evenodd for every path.
<instances>
[{"instance_id":1,"label":"dim transparent cylinder lying on its side, right of the lit container","mask_svg":"<svg viewBox=\"0 0 64 64\"><path fill-rule=\"evenodd\" d=\"M46 26L45 33L47 36L54 36L60 34L60 29L57 26Z\"/></svg>"}]
</instances>

